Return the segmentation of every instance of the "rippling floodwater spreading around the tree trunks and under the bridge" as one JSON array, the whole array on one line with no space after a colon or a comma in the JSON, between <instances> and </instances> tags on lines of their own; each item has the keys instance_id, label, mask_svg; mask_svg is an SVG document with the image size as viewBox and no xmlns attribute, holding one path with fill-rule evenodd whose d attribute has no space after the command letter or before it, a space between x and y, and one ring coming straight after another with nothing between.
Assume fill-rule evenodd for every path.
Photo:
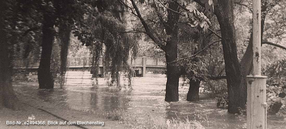
<instances>
[{"instance_id":1,"label":"rippling floodwater spreading around the tree trunks and under the bridge","mask_svg":"<svg viewBox=\"0 0 286 129\"><path fill-rule=\"evenodd\" d=\"M166 75L147 74L147 77L133 78L133 90L118 90L108 87L104 78L98 79L93 87L90 72L67 72L64 89L56 86L53 90L38 89L37 82L14 82L16 93L30 95L31 99L57 103L71 109L91 113L111 113L126 111L141 119L162 116L168 119L189 119L199 121L206 129L241 129L246 126L246 117L227 113L216 107L216 99L201 94L200 101L186 101L187 86L179 86L179 101L165 102ZM121 81L122 86L127 80ZM180 81L182 84L182 81ZM281 115L268 115L268 129L286 129Z\"/></svg>"}]
</instances>

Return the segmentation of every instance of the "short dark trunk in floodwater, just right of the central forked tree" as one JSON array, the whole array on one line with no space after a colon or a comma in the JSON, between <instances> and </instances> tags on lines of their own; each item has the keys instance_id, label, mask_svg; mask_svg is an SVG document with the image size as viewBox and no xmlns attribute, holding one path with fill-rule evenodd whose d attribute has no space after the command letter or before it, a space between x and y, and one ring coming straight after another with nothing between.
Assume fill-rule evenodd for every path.
<instances>
[{"instance_id":1,"label":"short dark trunk in floodwater, just right of the central forked tree","mask_svg":"<svg viewBox=\"0 0 286 129\"><path fill-rule=\"evenodd\" d=\"M200 88L200 81L201 80L192 80L190 79L190 87L187 94L187 101L198 101L199 100L199 88Z\"/></svg>"}]
</instances>

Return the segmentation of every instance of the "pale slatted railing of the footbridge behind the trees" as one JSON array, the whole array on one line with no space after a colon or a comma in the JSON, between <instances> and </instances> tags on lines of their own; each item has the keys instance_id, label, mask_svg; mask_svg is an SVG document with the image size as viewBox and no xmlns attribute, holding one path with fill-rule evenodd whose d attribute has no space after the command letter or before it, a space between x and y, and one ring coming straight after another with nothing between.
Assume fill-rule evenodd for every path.
<instances>
[{"instance_id":1,"label":"pale slatted railing of the footbridge behind the trees","mask_svg":"<svg viewBox=\"0 0 286 129\"><path fill-rule=\"evenodd\" d=\"M146 60L144 62L144 60ZM36 58L15 58L13 59L14 68L24 67L39 67L40 59ZM60 59L51 59L53 61L60 61ZM146 63L146 64L144 64ZM135 57L129 58L128 64L130 66L166 66L164 58L152 57ZM90 66L92 65L92 57L68 57L67 66ZM103 65L103 57L100 57L99 65Z\"/></svg>"}]
</instances>

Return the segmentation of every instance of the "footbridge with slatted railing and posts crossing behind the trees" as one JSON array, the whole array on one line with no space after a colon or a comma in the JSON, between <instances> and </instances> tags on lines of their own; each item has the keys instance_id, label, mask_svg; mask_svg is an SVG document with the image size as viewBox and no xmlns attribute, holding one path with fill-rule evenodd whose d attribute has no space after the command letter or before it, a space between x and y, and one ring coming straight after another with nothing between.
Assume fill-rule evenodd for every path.
<instances>
[{"instance_id":1,"label":"footbridge with slatted railing and posts crossing behind the trees","mask_svg":"<svg viewBox=\"0 0 286 129\"><path fill-rule=\"evenodd\" d=\"M103 60L99 60L100 74L103 72ZM37 70L39 67L39 59L35 58L15 58L13 65L15 69L30 69ZM51 59L51 66L54 63L59 63L60 59ZM146 72L164 73L166 69L165 58L152 58L152 57L135 57L129 58L128 64L135 70L137 76L146 76ZM68 70L90 70L92 65L92 57L68 57L67 68Z\"/></svg>"}]
</instances>

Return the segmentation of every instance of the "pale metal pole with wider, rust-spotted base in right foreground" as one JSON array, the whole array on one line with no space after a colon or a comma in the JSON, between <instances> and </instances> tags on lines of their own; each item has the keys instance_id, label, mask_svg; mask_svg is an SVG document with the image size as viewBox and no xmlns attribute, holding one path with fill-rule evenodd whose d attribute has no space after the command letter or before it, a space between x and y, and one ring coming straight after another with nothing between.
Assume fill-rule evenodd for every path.
<instances>
[{"instance_id":1,"label":"pale metal pole with wider, rust-spotted base in right foreground","mask_svg":"<svg viewBox=\"0 0 286 129\"><path fill-rule=\"evenodd\" d=\"M261 0L253 0L253 75L247 76L247 128L267 128L266 76L261 76Z\"/></svg>"}]
</instances>

